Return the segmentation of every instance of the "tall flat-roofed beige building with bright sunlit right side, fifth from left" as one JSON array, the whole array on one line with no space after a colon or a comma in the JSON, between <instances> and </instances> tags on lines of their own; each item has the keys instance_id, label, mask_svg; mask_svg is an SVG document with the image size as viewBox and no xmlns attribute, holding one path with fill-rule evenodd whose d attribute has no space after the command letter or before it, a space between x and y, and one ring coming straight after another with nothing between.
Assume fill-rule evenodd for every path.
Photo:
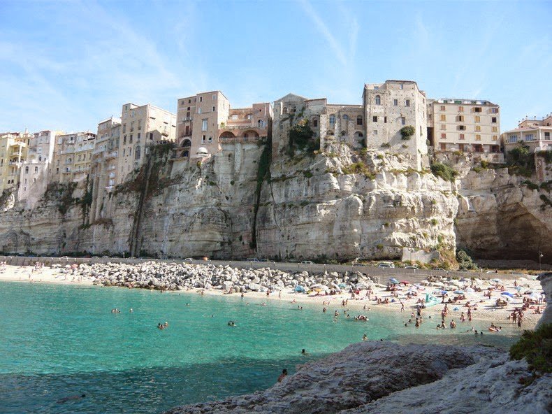
<instances>
[{"instance_id":1,"label":"tall flat-roofed beige building with bright sunlit right side, fifth from left","mask_svg":"<svg viewBox=\"0 0 552 414\"><path fill-rule=\"evenodd\" d=\"M125 103L121 112L117 171L120 184L133 169L142 166L147 147L163 141L175 141L176 115L147 103L138 106Z\"/></svg>"}]
</instances>

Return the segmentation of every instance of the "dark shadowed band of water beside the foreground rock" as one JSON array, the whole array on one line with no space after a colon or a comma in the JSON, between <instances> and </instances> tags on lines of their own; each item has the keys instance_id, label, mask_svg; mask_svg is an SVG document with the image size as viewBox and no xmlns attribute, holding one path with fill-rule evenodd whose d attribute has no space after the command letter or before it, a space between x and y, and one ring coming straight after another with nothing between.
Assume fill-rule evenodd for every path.
<instances>
[{"instance_id":1,"label":"dark shadowed band of water beside the foreground rock","mask_svg":"<svg viewBox=\"0 0 552 414\"><path fill-rule=\"evenodd\" d=\"M152 350L155 352L155 350ZM265 390L282 372L326 355L67 374L0 374L0 413L161 413L183 404ZM84 399L57 404L61 398Z\"/></svg>"}]
</instances>

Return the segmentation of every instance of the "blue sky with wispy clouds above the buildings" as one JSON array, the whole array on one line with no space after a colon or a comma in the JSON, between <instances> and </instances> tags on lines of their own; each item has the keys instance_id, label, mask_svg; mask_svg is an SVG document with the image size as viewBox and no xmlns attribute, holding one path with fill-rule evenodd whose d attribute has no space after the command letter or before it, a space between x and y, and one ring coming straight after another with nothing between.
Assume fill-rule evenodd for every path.
<instances>
[{"instance_id":1,"label":"blue sky with wispy clouds above the buildings","mask_svg":"<svg viewBox=\"0 0 552 414\"><path fill-rule=\"evenodd\" d=\"M0 131L95 131L126 102L235 108L364 83L488 99L501 129L552 112L551 1L0 0Z\"/></svg>"}]
</instances>

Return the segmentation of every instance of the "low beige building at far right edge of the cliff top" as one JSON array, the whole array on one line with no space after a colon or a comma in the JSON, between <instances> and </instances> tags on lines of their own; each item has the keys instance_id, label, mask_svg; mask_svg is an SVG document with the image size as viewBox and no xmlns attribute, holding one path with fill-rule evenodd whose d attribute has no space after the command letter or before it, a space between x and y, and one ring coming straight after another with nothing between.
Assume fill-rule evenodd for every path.
<instances>
[{"instance_id":1,"label":"low beige building at far right edge of the cliff top","mask_svg":"<svg viewBox=\"0 0 552 414\"><path fill-rule=\"evenodd\" d=\"M531 152L552 150L552 113L537 120L524 118L516 129L502 134L504 152L508 153L523 141Z\"/></svg>"}]
</instances>

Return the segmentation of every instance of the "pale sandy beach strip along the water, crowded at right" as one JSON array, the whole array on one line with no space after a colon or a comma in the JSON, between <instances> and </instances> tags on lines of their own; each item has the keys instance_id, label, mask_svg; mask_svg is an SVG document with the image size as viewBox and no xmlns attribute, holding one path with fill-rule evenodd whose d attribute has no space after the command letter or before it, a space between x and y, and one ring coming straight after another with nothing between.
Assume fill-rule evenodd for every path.
<instances>
[{"instance_id":1,"label":"pale sandy beach strip along the water, crowded at right","mask_svg":"<svg viewBox=\"0 0 552 414\"><path fill-rule=\"evenodd\" d=\"M0 280L3 281L15 281L23 283L57 283L64 285L93 285L94 280L92 278L86 277L74 277L70 273L64 273L66 269L64 268L50 268L42 267L41 269L35 269L34 266L10 266L5 265L3 269L0 269ZM542 287L538 280L534 276L527 276L525 280L517 280L518 286L522 287L521 292L532 291L532 292L542 292ZM514 286L514 280L504 280L504 290L505 292L516 292ZM409 285L404 286L400 285L399 294L400 300L405 304L405 311L401 312L401 304L397 298L394 298L391 292L386 291L386 287L375 287L372 294L370 295L370 300L366 295L366 291L363 290L360 294L356 295L356 299L351 299L350 293L341 293L335 295L327 296L317 296L316 294L299 294L290 290L282 290L281 292L271 292L268 296L266 292L247 292L245 294L245 299L253 299L255 301L266 302L267 305L270 305L270 301L289 301L290 306L300 306L300 304L313 304L319 306L322 310L327 308L328 313L333 313L335 310L342 312L343 309L349 311L350 317L356 315L366 315L370 317L370 311L381 310L395 313L402 313L405 315L405 320L408 320L411 317L411 314L416 313L416 301L420 298L424 298L426 293L435 292L435 287L418 287L418 296L412 297L412 299L405 299L404 294L409 289ZM223 290L200 290L200 289L191 289L188 292L191 293L201 293L210 295L224 295L235 297L240 299L239 293L225 294ZM167 293L177 293L182 291L167 292ZM521 308L523 305L523 297L513 297L508 298L507 306L502 308L497 308L495 306L495 301L497 298L502 297L500 291L495 290L491 294L491 299L484 297L484 292L466 292L465 300L457 301L455 304L448 304L449 313L446 316L446 323L448 324L451 320L455 320L457 324L460 324L460 315L463 312L467 317L467 307L465 306L467 301L470 301L470 304L477 305L477 309L472 308L472 319L474 320L486 320L489 322L494 322L497 325L506 325L513 324L511 320L508 319L510 313L515 308ZM455 296L450 293L451 296ZM527 296L527 295L525 295ZM388 299L388 304L377 304L375 298L380 298L382 300ZM393 301L394 299L394 301ZM345 307L342 306L342 301L347 300ZM541 309L544 309L546 303L544 302L540 306ZM426 315L435 315L432 320L437 324L440 322L440 314L444 304L436 304L435 306L427 307L423 310L424 322L427 322ZM522 327L532 328L535 326L540 314L533 313L534 309L525 310L523 316L523 325ZM415 317L412 317L414 322Z\"/></svg>"}]
</instances>

